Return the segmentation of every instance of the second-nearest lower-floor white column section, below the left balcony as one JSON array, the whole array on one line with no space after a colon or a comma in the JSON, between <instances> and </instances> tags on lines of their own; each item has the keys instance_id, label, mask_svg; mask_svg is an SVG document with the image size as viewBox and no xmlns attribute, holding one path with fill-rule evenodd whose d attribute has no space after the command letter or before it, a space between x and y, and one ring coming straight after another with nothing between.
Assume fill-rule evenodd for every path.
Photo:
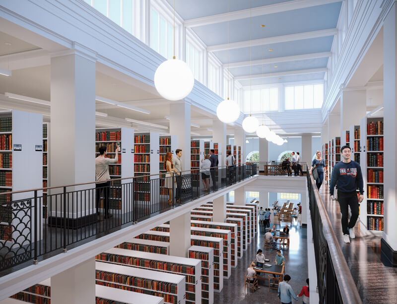
<instances>
[{"instance_id":1,"label":"second-nearest lower-floor white column section, below the left balcony","mask_svg":"<svg viewBox=\"0 0 397 304\"><path fill-rule=\"evenodd\" d=\"M187 212L170 221L170 255L186 257L190 246L190 212Z\"/></svg>"}]
</instances>

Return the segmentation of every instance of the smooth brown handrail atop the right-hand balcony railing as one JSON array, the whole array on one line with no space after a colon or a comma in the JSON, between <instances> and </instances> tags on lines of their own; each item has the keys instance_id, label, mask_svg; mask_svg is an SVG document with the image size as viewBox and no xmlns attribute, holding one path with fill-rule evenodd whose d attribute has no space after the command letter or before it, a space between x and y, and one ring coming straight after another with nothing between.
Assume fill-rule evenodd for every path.
<instances>
[{"instance_id":1,"label":"smooth brown handrail atop the right-hand balcony railing","mask_svg":"<svg viewBox=\"0 0 397 304\"><path fill-rule=\"evenodd\" d=\"M310 181L312 190L316 197L317 207L321 216L324 237L327 240L328 247L331 253L331 260L336 274L340 294L344 304L360 304L362 303L358 293L356 284L354 283L349 266L343 255L342 248L336 238L335 232L331 226L331 220L328 217L327 210L321 199L320 192L317 189L316 182L310 174ZM351 288L354 286L354 288Z\"/></svg>"}]
</instances>

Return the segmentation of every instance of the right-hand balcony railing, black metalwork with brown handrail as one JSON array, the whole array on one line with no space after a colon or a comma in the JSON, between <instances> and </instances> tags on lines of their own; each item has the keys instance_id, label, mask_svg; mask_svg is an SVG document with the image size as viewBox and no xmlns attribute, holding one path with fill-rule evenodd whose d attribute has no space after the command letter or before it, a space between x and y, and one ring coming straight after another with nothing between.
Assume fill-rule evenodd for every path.
<instances>
[{"instance_id":1,"label":"right-hand balcony railing, black metalwork with brown handrail","mask_svg":"<svg viewBox=\"0 0 397 304\"><path fill-rule=\"evenodd\" d=\"M361 304L350 269L332 229L313 176L307 175L309 208L316 256L319 303Z\"/></svg>"}]
</instances>

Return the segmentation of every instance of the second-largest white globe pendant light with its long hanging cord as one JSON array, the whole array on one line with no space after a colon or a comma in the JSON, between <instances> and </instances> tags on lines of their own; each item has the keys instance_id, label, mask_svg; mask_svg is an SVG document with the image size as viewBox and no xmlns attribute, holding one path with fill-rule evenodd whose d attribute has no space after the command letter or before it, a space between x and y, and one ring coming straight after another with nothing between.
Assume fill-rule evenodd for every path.
<instances>
[{"instance_id":1,"label":"second-largest white globe pendant light with its long hanging cord","mask_svg":"<svg viewBox=\"0 0 397 304\"><path fill-rule=\"evenodd\" d=\"M227 45L229 46L229 1L227 1ZM240 107L236 101L229 99L229 47L227 48L227 99L220 102L216 108L216 116L225 123L234 123L240 116Z\"/></svg>"}]
</instances>

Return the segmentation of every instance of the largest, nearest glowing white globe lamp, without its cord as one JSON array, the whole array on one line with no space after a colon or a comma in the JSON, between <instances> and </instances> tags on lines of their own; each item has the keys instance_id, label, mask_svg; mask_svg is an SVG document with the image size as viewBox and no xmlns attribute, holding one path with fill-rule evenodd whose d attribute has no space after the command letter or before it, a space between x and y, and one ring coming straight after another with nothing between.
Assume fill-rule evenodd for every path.
<instances>
[{"instance_id":1,"label":"largest, nearest glowing white globe lamp, without its cord","mask_svg":"<svg viewBox=\"0 0 397 304\"><path fill-rule=\"evenodd\" d=\"M164 61L154 74L154 86L159 94L168 100L181 100L189 95L195 84L195 77L182 60Z\"/></svg>"}]
</instances>

